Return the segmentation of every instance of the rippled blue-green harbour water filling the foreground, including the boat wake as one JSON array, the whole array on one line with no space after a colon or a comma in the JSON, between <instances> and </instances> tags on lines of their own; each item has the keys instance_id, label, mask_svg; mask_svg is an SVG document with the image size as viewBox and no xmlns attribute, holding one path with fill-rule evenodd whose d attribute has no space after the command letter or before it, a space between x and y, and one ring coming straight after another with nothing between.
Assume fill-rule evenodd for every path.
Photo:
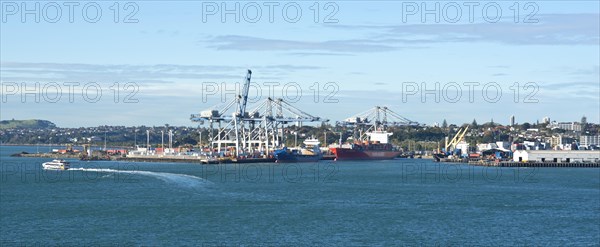
<instances>
[{"instance_id":1,"label":"rippled blue-green harbour water filling the foreground, including the boat wake","mask_svg":"<svg viewBox=\"0 0 600 247\"><path fill-rule=\"evenodd\" d=\"M404 159L135 163L0 150L11 245L577 245L600 243L600 169Z\"/></svg>"}]
</instances>

